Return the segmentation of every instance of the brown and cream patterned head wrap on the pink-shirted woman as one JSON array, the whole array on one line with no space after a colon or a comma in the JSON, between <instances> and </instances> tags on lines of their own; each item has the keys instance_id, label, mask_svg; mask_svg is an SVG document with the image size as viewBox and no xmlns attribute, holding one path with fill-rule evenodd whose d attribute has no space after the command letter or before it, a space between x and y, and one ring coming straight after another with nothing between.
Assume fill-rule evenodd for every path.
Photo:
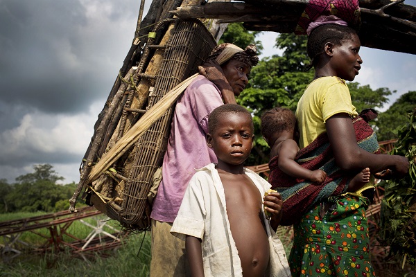
<instances>
[{"instance_id":1,"label":"brown and cream patterned head wrap on the pink-shirted woman","mask_svg":"<svg viewBox=\"0 0 416 277\"><path fill-rule=\"evenodd\" d=\"M207 58L207 62L211 60L216 60L218 64L224 64L229 60L238 60L252 67L259 62L259 57L257 56L257 48L254 44L250 44L243 50L234 44L223 43L217 45L211 52L211 55Z\"/></svg>"}]
</instances>

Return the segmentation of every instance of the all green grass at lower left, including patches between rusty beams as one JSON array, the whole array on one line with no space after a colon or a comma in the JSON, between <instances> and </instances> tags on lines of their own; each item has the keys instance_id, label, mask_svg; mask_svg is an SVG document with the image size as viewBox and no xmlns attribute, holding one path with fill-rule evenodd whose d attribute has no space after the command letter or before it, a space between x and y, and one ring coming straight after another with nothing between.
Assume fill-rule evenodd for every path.
<instances>
[{"instance_id":1,"label":"all green grass at lower left, including patches between rusty beams","mask_svg":"<svg viewBox=\"0 0 416 277\"><path fill-rule=\"evenodd\" d=\"M42 213L15 213L1 214L0 222L15 220L24 217L42 215ZM86 218L85 222L96 224L97 220L104 217ZM118 222L110 221L109 224L119 229ZM76 238L86 238L92 231L91 228L73 222L68 233ZM36 233L24 232L19 240L31 244L42 245L48 229L38 229ZM110 232L109 232L110 233ZM64 239L68 242L73 240L67 236ZM4 244L4 238L0 238L0 244ZM133 233L123 240L121 246L116 249L103 251L101 253L87 253L80 256L70 253L64 249L58 253L33 253L21 254L12 259L2 256L0 263L0 276L23 277L23 276L148 276L150 265L150 233Z\"/></svg>"}]
</instances>

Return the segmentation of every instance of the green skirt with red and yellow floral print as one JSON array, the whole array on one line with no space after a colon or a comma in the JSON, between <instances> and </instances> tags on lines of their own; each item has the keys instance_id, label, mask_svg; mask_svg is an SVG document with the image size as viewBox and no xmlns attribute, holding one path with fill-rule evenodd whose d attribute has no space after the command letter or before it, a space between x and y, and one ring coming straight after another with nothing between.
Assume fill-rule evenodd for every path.
<instances>
[{"instance_id":1,"label":"green skirt with red and yellow floral print","mask_svg":"<svg viewBox=\"0 0 416 277\"><path fill-rule=\"evenodd\" d=\"M293 225L292 276L376 276L370 262L367 206L367 199L347 194L330 197L304 214Z\"/></svg>"}]
</instances>

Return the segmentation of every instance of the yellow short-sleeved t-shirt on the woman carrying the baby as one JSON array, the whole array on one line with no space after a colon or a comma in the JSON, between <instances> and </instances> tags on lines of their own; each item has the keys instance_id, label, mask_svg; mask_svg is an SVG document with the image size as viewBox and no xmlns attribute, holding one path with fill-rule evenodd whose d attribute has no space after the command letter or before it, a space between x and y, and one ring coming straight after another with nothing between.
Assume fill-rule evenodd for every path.
<instances>
[{"instance_id":1,"label":"yellow short-sleeved t-shirt on the woman carrying the baby","mask_svg":"<svg viewBox=\"0 0 416 277\"><path fill-rule=\"evenodd\" d=\"M328 118L340 113L347 113L352 118L358 115L345 80L333 76L313 80L297 103L300 148L305 148L327 132L325 123Z\"/></svg>"}]
</instances>

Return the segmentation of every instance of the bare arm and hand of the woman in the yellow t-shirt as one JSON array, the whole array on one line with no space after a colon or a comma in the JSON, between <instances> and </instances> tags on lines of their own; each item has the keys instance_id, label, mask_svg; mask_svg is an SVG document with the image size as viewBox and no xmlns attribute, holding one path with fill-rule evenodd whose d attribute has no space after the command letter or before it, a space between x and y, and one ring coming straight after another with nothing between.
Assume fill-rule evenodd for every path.
<instances>
[{"instance_id":1,"label":"bare arm and hand of the woman in the yellow t-shirt","mask_svg":"<svg viewBox=\"0 0 416 277\"><path fill-rule=\"evenodd\" d=\"M356 141L352 119L348 114L336 114L325 123L329 143L337 165L343 170L362 170L370 172L392 170L397 177L404 177L409 170L406 157L390 154L373 154L360 148Z\"/></svg>"}]
</instances>

